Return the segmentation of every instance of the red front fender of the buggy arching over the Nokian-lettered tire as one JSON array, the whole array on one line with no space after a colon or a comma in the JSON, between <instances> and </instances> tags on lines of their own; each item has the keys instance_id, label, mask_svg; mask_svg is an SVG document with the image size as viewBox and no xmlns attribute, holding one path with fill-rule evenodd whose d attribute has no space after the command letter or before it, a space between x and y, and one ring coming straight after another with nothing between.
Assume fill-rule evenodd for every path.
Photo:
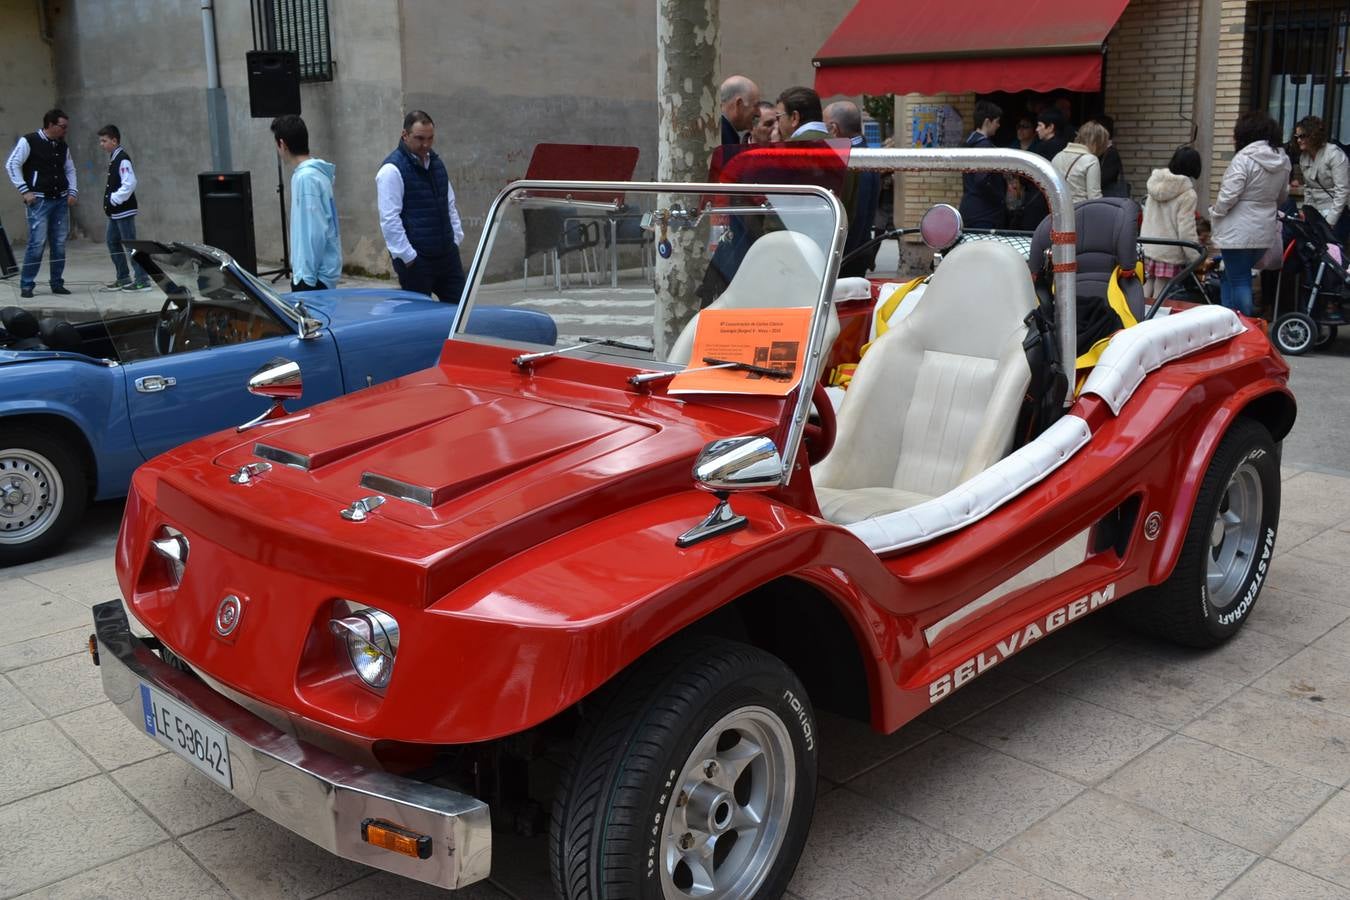
<instances>
[{"instance_id":1,"label":"red front fender of the buggy arching over the Nokian-lettered tire","mask_svg":"<svg viewBox=\"0 0 1350 900\"><path fill-rule=\"evenodd\" d=\"M454 633L458 690L429 710L390 691L398 721L417 716L433 742L482 741L537 725L601 687L651 648L774 579L795 576L840 609L864 645L869 679L891 663L907 619L880 615L867 596L894 579L857 538L763 495L733 498L738 532L688 548L675 538L713 498L698 491L625 509L487 569L427 614ZM427 629L427 633L440 629ZM436 645L405 631L400 665L412 683L444 665ZM439 676L444 680L444 673ZM875 685L873 685L875 687ZM396 695L398 694L398 695ZM884 692L873 691L873 696ZM405 700L408 704L405 706ZM398 708L396 708L398 707Z\"/></svg>"}]
</instances>

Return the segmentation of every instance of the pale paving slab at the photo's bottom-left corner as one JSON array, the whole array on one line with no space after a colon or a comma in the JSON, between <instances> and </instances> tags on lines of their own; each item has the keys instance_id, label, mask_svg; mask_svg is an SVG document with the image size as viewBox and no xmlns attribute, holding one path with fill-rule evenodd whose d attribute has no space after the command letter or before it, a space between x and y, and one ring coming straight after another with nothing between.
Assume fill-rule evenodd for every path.
<instances>
[{"instance_id":1,"label":"pale paving slab at the photo's bottom-left corner","mask_svg":"<svg viewBox=\"0 0 1350 900\"><path fill-rule=\"evenodd\" d=\"M159 826L107 776L0 806L0 834L4 896L59 881L165 839ZM111 896L131 895L115 891Z\"/></svg>"}]
</instances>

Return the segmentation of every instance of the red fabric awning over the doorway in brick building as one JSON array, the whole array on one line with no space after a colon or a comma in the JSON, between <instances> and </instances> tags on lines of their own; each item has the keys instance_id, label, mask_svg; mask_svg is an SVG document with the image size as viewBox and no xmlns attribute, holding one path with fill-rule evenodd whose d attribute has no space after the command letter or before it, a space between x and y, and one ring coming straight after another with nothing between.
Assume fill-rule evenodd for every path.
<instances>
[{"instance_id":1,"label":"red fabric awning over the doorway in brick building","mask_svg":"<svg viewBox=\"0 0 1350 900\"><path fill-rule=\"evenodd\" d=\"M1099 90L1129 0L857 0L815 54L834 94Z\"/></svg>"}]
</instances>

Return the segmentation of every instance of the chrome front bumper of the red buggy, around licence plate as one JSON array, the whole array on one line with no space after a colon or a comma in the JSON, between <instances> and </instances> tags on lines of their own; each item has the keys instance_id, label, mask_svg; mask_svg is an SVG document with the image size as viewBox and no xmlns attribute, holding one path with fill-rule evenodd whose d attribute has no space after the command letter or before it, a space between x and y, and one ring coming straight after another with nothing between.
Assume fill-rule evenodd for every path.
<instances>
[{"instance_id":1,"label":"chrome front bumper of the red buggy, around licence plate","mask_svg":"<svg viewBox=\"0 0 1350 900\"><path fill-rule=\"evenodd\" d=\"M94 606L93 622L104 694L136 727L144 727L140 685L148 684L224 730L231 793L243 803L344 860L441 888L487 877L491 823L482 800L354 765L277 730L132 637L122 600ZM431 858L366 843L366 819L431 835Z\"/></svg>"}]
</instances>

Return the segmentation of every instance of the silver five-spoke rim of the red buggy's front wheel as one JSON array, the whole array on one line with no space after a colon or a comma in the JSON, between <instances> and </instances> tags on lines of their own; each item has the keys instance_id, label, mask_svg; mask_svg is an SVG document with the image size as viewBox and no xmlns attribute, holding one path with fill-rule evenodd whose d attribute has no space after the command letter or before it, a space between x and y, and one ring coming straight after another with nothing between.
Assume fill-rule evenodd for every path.
<instances>
[{"instance_id":1,"label":"silver five-spoke rim of the red buggy's front wheel","mask_svg":"<svg viewBox=\"0 0 1350 900\"><path fill-rule=\"evenodd\" d=\"M747 897L787 834L796 757L787 726L744 707L710 727L674 780L662 834L667 897Z\"/></svg>"}]
</instances>

